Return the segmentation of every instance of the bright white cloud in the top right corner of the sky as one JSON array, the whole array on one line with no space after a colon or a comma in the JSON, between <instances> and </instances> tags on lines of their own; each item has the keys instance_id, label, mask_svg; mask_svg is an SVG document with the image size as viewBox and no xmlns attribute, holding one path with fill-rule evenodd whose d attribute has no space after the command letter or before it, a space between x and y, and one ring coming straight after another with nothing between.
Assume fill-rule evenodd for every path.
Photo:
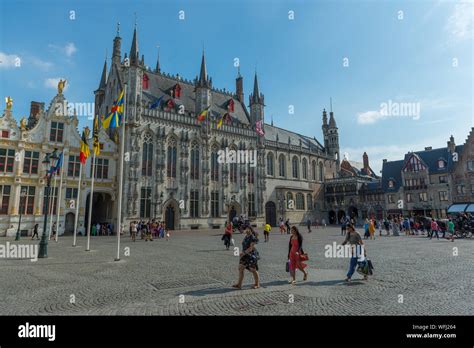
<instances>
[{"instance_id":1,"label":"bright white cloud in the top right corner of the sky","mask_svg":"<svg viewBox=\"0 0 474 348\"><path fill-rule=\"evenodd\" d=\"M449 16L445 27L452 40L461 41L472 38L473 11L474 2L472 0L457 3L454 6L454 11Z\"/></svg>"}]
</instances>

